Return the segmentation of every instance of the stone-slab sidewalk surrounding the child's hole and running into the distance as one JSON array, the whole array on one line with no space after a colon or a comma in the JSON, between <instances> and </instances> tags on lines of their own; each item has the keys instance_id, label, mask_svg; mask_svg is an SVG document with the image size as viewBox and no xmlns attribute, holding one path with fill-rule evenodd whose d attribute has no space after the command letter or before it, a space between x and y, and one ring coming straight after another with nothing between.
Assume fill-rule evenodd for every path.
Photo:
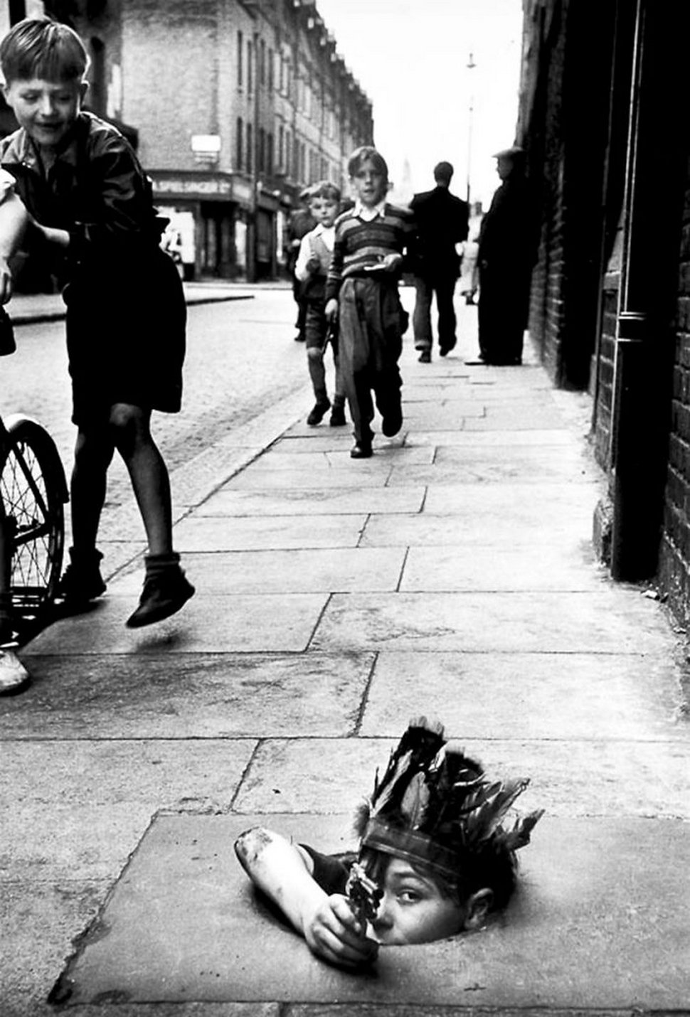
<instances>
[{"instance_id":1,"label":"stone-slab sidewalk surrounding the child's hole and running into the distance","mask_svg":"<svg viewBox=\"0 0 690 1017\"><path fill-rule=\"evenodd\" d=\"M107 597L25 648L35 682L0 706L2 1017L52 1012L61 972L87 1017L687 1010L684 634L593 560L586 397L533 356L465 364L458 311L446 359L406 338L405 423L371 460L290 405L174 483L179 615L124 629L118 534ZM420 713L547 815L503 920L344 974L252 898L232 839L342 846Z\"/></svg>"}]
</instances>

